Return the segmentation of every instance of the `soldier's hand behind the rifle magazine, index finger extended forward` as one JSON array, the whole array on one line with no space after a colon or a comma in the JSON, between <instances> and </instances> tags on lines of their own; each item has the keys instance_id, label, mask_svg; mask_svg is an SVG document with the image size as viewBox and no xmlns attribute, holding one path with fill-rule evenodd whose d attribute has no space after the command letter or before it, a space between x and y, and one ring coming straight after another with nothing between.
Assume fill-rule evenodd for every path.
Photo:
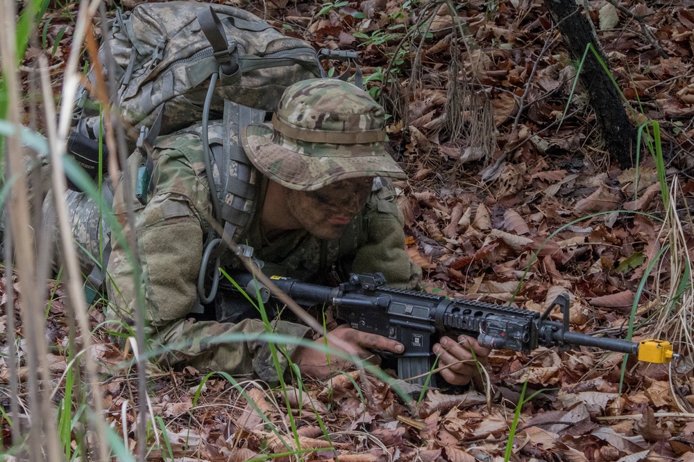
<instances>
[{"instance_id":1,"label":"soldier's hand behind the rifle magazine, index finger extended forward","mask_svg":"<svg viewBox=\"0 0 694 462\"><path fill-rule=\"evenodd\" d=\"M405 347L395 340L367 332L359 332L348 327L339 327L332 332L328 332L328 335L315 340L314 343L324 345L326 337L328 339L328 348L331 351L355 354L359 359L366 359L375 364L380 363L380 357L366 348L386 350L392 353L403 353L405 350ZM352 351L349 351L350 348L343 348L345 346L351 347ZM348 359L338 355L330 355L329 363L328 355L324 351L311 348L310 346L299 346L296 348L291 359L298 364L299 370L303 375L314 378L328 377L331 373L344 370L352 364Z\"/></svg>"}]
</instances>

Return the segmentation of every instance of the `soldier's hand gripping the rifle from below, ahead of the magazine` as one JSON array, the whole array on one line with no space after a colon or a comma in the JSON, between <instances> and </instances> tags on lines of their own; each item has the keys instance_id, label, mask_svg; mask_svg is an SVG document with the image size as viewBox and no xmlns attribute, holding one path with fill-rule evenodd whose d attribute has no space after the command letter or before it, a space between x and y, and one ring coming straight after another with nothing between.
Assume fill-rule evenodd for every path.
<instances>
[{"instance_id":1,"label":"soldier's hand gripping the rifle from below, ahead of the magazine","mask_svg":"<svg viewBox=\"0 0 694 462\"><path fill-rule=\"evenodd\" d=\"M452 385L467 385L471 380L480 379L479 368L486 366L486 357L490 353L488 348L467 335L461 335L457 340L441 337L433 350L439 356L437 368L446 367L440 371L441 377Z\"/></svg>"}]
</instances>

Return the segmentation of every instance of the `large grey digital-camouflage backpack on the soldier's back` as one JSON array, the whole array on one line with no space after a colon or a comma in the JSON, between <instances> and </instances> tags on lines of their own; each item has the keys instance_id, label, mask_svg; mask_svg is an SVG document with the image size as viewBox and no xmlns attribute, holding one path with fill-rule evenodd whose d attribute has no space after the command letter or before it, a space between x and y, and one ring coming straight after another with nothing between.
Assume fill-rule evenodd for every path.
<instances>
[{"instance_id":1,"label":"large grey digital-camouflage backpack on the soldier's back","mask_svg":"<svg viewBox=\"0 0 694 462\"><path fill-rule=\"evenodd\" d=\"M309 43L282 35L244 10L194 1L140 3L132 12L118 13L106 41L119 85L115 105L129 125L151 126L163 103L161 134L201 120L210 75L220 66L198 24L203 8L219 16L240 66L233 75L220 75L210 118L219 117L224 100L273 111L289 85L321 75ZM103 47L99 55L106 62ZM88 78L94 82L91 73Z\"/></svg>"}]
</instances>

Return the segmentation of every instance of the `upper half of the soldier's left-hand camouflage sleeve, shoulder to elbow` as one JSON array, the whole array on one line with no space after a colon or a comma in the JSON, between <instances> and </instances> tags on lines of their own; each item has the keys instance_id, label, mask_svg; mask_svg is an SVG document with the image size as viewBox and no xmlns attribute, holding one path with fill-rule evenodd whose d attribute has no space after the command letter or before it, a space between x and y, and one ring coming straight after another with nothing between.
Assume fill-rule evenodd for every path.
<instances>
[{"instance_id":1,"label":"upper half of the soldier's left-hand camouflage sleeve, shoulder to elbow","mask_svg":"<svg viewBox=\"0 0 694 462\"><path fill-rule=\"evenodd\" d=\"M170 140L170 141L169 141ZM198 271L203 254L203 228L210 215L210 189L205 179L202 148L194 135L164 139L153 150L153 193L146 206L115 194L114 210L127 223L126 201L135 209L135 231L144 287L147 320L153 326L184 317L196 301ZM132 184L142 157L128 159ZM126 236L128 233L126 229ZM133 319L128 308L137 294L133 263L122 240L114 240L108 264L108 296L124 318Z\"/></svg>"}]
</instances>

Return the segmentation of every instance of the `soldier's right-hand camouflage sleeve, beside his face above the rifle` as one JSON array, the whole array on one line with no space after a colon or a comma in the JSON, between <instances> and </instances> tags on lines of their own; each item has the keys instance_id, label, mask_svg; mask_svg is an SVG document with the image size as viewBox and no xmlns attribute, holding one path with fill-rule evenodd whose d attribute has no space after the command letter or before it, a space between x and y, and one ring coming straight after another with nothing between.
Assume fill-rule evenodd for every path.
<instances>
[{"instance_id":1,"label":"soldier's right-hand camouflage sleeve, beside his face above the rifle","mask_svg":"<svg viewBox=\"0 0 694 462\"><path fill-rule=\"evenodd\" d=\"M390 181L380 181L382 187L371 193L362 213L359 227L364 244L354 254L350 271L382 272L391 287L415 289L421 282L422 269L405 250L405 220L396 203L395 188Z\"/></svg>"}]
</instances>

